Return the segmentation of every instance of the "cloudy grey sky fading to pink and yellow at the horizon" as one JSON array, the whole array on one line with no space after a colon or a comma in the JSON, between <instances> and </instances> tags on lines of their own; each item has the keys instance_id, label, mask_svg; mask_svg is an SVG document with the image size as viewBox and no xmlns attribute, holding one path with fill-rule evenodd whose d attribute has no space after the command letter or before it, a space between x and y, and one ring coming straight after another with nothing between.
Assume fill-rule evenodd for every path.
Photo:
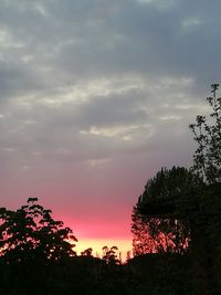
<instances>
[{"instance_id":1,"label":"cloudy grey sky fading to pink and yellow at the horizon","mask_svg":"<svg viewBox=\"0 0 221 295\"><path fill-rule=\"evenodd\" d=\"M0 206L29 197L82 247L131 245L162 166L220 81L220 0L0 0ZM96 250L97 251L97 250Z\"/></svg>"}]
</instances>

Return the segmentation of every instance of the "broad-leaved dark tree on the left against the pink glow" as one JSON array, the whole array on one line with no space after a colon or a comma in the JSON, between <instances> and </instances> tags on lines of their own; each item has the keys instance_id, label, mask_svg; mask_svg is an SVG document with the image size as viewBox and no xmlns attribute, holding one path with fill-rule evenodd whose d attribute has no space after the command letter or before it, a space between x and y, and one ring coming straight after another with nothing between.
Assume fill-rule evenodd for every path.
<instances>
[{"instance_id":1,"label":"broad-leaved dark tree on the left against the pink glow","mask_svg":"<svg viewBox=\"0 0 221 295\"><path fill-rule=\"evenodd\" d=\"M28 204L15 211L0 209L0 249L8 263L54 261L70 255L76 238L62 221L55 221L51 210L29 198ZM72 242L71 242L72 241Z\"/></svg>"}]
</instances>

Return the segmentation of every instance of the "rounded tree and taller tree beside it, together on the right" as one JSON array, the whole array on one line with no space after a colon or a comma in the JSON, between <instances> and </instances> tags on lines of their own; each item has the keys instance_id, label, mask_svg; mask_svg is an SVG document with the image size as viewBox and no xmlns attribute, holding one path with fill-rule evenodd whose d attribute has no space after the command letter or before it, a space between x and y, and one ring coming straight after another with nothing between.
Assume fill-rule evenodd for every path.
<instances>
[{"instance_id":1,"label":"rounded tree and taller tree beside it, together on the right","mask_svg":"<svg viewBox=\"0 0 221 295\"><path fill-rule=\"evenodd\" d=\"M164 253L191 257L192 294L220 294L221 98L219 84L207 98L211 114L189 128L197 148L192 166L161 168L133 209L135 256ZM193 293L194 292L194 293Z\"/></svg>"}]
</instances>

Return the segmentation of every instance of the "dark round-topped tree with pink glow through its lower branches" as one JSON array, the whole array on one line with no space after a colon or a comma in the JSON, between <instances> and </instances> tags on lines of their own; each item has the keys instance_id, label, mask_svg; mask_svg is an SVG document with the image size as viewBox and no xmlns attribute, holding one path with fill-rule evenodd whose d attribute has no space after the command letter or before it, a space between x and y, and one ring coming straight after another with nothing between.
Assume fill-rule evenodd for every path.
<instances>
[{"instance_id":1,"label":"dark round-topped tree with pink glow through its lower branches","mask_svg":"<svg viewBox=\"0 0 221 295\"><path fill-rule=\"evenodd\" d=\"M183 253L190 240L188 221L176 217L176 202L197 183L192 173L180 167L162 168L147 181L133 210L134 255Z\"/></svg>"}]
</instances>

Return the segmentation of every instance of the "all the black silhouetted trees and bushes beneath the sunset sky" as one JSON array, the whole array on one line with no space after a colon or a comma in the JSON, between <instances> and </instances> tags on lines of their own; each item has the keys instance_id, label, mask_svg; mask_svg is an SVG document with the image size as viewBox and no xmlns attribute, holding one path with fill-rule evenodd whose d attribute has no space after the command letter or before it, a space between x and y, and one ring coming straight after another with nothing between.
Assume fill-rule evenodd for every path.
<instances>
[{"instance_id":1,"label":"all the black silhouetted trees and bushes beneath the sunset sky","mask_svg":"<svg viewBox=\"0 0 221 295\"><path fill-rule=\"evenodd\" d=\"M147 181L133 210L134 259L117 247L76 255L70 228L29 198L15 211L0 209L0 294L220 294L221 99L190 125L193 165L162 168Z\"/></svg>"}]
</instances>

